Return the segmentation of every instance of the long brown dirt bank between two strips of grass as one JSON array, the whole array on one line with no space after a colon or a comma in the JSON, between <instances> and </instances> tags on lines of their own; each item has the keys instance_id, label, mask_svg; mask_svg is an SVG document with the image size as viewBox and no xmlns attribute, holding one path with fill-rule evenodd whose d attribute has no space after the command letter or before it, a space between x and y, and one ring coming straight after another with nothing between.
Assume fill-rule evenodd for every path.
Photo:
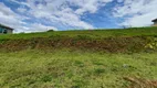
<instances>
[{"instance_id":1,"label":"long brown dirt bank between two strips of grass","mask_svg":"<svg viewBox=\"0 0 157 88\"><path fill-rule=\"evenodd\" d=\"M142 52L148 41L140 36L134 37L106 37L94 40L91 37L39 37L31 40L3 40L0 41L0 51L53 50L76 48L90 51L105 51L109 53Z\"/></svg>"}]
</instances>

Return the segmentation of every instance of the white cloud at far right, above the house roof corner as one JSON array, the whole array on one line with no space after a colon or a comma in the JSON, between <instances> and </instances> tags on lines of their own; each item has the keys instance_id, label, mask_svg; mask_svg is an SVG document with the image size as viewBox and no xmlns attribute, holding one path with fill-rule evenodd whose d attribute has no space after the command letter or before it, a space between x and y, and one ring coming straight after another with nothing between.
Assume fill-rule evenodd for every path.
<instances>
[{"instance_id":1,"label":"white cloud at far right, above the house roof corner","mask_svg":"<svg viewBox=\"0 0 157 88\"><path fill-rule=\"evenodd\" d=\"M157 0L123 0L124 6L115 8L114 16L125 18L121 25L148 26L157 18Z\"/></svg>"}]
</instances>

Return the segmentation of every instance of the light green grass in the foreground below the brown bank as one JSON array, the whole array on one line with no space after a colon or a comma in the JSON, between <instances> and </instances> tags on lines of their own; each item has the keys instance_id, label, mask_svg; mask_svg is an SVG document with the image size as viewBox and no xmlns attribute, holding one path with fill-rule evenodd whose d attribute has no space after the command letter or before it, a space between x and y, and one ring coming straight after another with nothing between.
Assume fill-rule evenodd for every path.
<instances>
[{"instance_id":1,"label":"light green grass in the foreground below the brown bank","mask_svg":"<svg viewBox=\"0 0 157 88\"><path fill-rule=\"evenodd\" d=\"M123 77L157 79L157 53L0 53L0 88L127 88Z\"/></svg>"}]
</instances>

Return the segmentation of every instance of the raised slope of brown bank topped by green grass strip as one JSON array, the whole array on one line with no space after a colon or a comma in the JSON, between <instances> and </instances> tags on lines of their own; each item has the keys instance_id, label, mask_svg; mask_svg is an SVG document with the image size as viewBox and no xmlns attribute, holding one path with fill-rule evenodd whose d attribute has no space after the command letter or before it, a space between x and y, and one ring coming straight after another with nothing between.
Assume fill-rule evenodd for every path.
<instances>
[{"instance_id":1,"label":"raised slope of brown bank topped by green grass strip","mask_svg":"<svg viewBox=\"0 0 157 88\"><path fill-rule=\"evenodd\" d=\"M0 35L0 51L72 48L111 53L157 48L156 28L126 30L57 31Z\"/></svg>"}]
</instances>

